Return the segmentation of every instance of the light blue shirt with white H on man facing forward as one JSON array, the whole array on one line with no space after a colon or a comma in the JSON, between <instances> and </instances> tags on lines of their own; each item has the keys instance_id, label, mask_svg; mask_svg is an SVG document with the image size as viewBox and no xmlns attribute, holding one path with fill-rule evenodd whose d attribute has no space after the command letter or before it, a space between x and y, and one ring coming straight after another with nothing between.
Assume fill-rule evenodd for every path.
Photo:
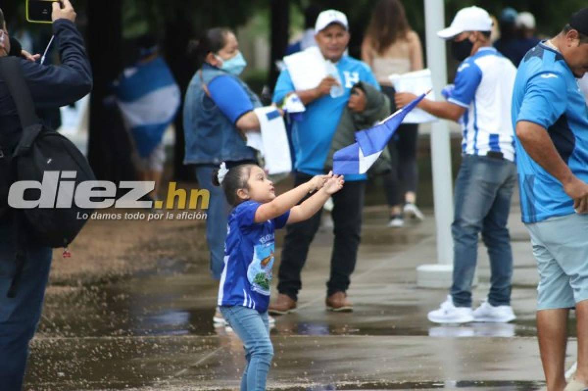
<instances>
[{"instance_id":1,"label":"light blue shirt with white H on man facing forward","mask_svg":"<svg viewBox=\"0 0 588 391\"><path fill-rule=\"evenodd\" d=\"M324 173L325 161L330 150L333 135L339 125L343 109L349 101L349 92L356 83L368 82L375 88L380 86L371 69L365 63L343 56L336 64L339 78L345 93L338 98L324 95L306 106L302 121L295 122L292 128L292 142L296 152L296 171L309 175ZM273 92L273 101L278 103L295 91L288 69L280 73ZM363 181L365 174L345 175L345 181Z\"/></svg>"}]
</instances>

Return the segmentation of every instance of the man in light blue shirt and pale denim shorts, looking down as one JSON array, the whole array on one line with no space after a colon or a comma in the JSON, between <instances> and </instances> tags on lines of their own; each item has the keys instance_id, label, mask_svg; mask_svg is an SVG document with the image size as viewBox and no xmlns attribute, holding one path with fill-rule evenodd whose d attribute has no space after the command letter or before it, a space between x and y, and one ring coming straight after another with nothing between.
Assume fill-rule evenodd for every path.
<instances>
[{"instance_id":1,"label":"man in light blue shirt and pale denim shorts, looking down","mask_svg":"<svg viewBox=\"0 0 588 391\"><path fill-rule=\"evenodd\" d=\"M547 389L588 388L588 8L521 62L513 92L523 222L539 269L537 330ZM578 365L566 386L569 309L576 309Z\"/></svg>"}]
</instances>

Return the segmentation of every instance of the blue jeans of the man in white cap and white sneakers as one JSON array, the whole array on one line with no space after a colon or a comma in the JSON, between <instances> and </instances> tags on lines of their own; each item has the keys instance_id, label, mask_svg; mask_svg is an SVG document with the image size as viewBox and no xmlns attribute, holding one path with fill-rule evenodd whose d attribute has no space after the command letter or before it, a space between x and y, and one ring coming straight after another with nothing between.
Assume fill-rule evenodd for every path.
<instances>
[{"instance_id":1,"label":"blue jeans of the man in white cap and white sneakers","mask_svg":"<svg viewBox=\"0 0 588 391\"><path fill-rule=\"evenodd\" d=\"M506 222L515 183L515 163L487 156L463 156L455 183L455 218L451 226L451 296L455 306L472 306L480 232L492 273L488 302L493 306L510 305L513 258Z\"/></svg>"}]
</instances>

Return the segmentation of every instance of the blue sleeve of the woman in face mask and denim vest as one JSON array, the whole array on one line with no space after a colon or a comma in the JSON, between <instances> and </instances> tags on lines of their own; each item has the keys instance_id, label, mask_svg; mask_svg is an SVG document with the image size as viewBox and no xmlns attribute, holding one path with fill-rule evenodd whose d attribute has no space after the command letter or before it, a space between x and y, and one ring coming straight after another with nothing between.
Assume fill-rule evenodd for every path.
<instances>
[{"instance_id":1,"label":"blue sleeve of the woman in face mask and denim vest","mask_svg":"<svg viewBox=\"0 0 588 391\"><path fill-rule=\"evenodd\" d=\"M231 76L218 76L208 83L207 88L216 106L233 124L243 114L253 110L253 103L247 92Z\"/></svg>"}]
</instances>

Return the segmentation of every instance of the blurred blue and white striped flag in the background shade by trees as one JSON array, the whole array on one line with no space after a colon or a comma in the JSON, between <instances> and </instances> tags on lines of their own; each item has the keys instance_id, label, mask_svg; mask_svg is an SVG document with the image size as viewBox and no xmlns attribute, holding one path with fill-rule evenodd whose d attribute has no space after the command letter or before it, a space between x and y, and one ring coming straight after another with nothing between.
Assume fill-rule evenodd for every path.
<instances>
[{"instance_id":1,"label":"blurred blue and white striped flag in the background shade by trees","mask_svg":"<svg viewBox=\"0 0 588 391\"><path fill-rule=\"evenodd\" d=\"M178 113L182 98L161 57L125 69L115 83L116 100L139 155L149 156Z\"/></svg>"}]
</instances>

